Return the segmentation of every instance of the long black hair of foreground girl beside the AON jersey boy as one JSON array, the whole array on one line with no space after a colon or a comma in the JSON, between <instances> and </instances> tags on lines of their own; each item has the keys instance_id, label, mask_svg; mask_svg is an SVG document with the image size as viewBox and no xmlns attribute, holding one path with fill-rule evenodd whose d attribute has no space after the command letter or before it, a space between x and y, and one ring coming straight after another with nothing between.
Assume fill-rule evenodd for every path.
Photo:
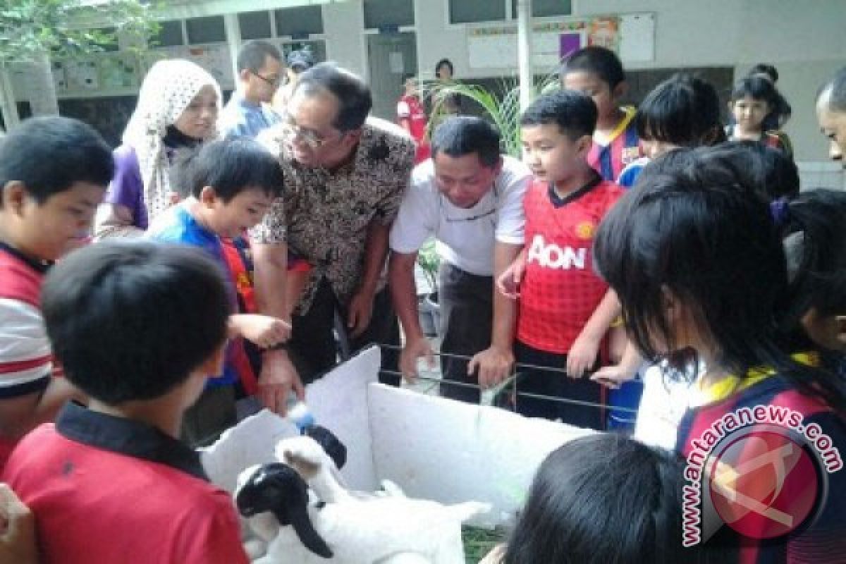
<instances>
[{"instance_id":1,"label":"long black hair of foreground girl beside the AON jersey boy","mask_svg":"<svg viewBox=\"0 0 846 564\"><path fill-rule=\"evenodd\" d=\"M667 309L671 294L710 343L719 370L772 366L799 392L843 413L846 381L790 357L798 351L788 344L783 227L761 187L714 151L677 149L656 159L596 232L594 266L623 305L629 340L645 359L666 359L667 370L685 374L690 349ZM667 158L673 165L662 165Z\"/></svg>"}]
</instances>

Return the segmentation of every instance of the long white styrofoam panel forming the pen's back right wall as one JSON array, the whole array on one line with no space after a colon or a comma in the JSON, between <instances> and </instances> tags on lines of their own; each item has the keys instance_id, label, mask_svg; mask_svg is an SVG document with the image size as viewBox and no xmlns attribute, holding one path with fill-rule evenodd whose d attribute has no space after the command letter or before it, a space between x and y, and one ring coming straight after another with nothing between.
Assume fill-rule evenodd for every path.
<instances>
[{"instance_id":1,"label":"long white styrofoam panel forming the pen's back right wall","mask_svg":"<svg viewBox=\"0 0 846 564\"><path fill-rule=\"evenodd\" d=\"M382 384L370 386L370 415L380 479L409 497L491 503L493 511L474 520L482 526L522 507L549 452L593 432Z\"/></svg>"}]
</instances>

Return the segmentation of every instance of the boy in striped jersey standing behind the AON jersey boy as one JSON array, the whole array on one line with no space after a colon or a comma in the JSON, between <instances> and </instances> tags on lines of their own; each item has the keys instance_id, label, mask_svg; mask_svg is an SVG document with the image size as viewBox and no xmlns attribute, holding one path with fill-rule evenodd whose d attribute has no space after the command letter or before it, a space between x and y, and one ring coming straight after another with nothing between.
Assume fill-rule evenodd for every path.
<instances>
[{"instance_id":1,"label":"boy in striped jersey standing behind the AON jersey boy","mask_svg":"<svg viewBox=\"0 0 846 564\"><path fill-rule=\"evenodd\" d=\"M605 47L585 47L563 63L561 85L580 90L596 104L596 129L587 162L606 180L615 181L631 162L644 156L634 107L620 107L628 85L617 54Z\"/></svg>"}]
</instances>

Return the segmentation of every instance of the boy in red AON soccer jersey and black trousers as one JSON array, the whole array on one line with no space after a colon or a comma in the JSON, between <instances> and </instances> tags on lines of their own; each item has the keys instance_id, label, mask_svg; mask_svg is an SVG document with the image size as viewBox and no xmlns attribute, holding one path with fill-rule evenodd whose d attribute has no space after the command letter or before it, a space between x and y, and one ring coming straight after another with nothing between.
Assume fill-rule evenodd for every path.
<instances>
[{"instance_id":1,"label":"boy in red AON soccer jersey and black trousers","mask_svg":"<svg viewBox=\"0 0 846 564\"><path fill-rule=\"evenodd\" d=\"M622 190L588 164L596 127L589 96L562 90L541 96L523 114L525 161L535 174L526 191L525 248L499 279L517 296L517 411L600 429L602 409L521 396L521 392L598 403L601 388L582 378L596 365L602 338L620 311L592 266L591 245L602 217ZM567 376L548 369L567 369Z\"/></svg>"}]
</instances>

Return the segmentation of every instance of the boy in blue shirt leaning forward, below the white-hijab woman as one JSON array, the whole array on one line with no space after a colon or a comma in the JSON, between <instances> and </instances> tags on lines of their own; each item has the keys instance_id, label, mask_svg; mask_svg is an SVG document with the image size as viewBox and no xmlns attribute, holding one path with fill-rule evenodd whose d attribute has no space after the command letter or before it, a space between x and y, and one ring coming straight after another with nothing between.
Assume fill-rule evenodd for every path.
<instances>
[{"instance_id":1,"label":"boy in blue shirt leaning forward, below the white-hijab woman","mask_svg":"<svg viewBox=\"0 0 846 564\"><path fill-rule=\"evenodd\" d=\"M238 278L245 273L236 277L230 270L222 238L236 237L261 221L281 193L282 169L258 142L244 137L204 145L179 168L178 176L190 196L159 216L147 236L204 249L228 272L234 306L235 290L242 285ZM289 326L266 315L233 315L230 324L233 335L261 348L288 337ZM204 443L235 423L235 383L239 373L244 375L244 370L238 370L239 362L245 362L242 345L231 342L222 374L208 382L206 392L186 413L183 436L187 441ZM255 392L255 381L241 381L245 392Z\"/></svg>"}]
</instances>

